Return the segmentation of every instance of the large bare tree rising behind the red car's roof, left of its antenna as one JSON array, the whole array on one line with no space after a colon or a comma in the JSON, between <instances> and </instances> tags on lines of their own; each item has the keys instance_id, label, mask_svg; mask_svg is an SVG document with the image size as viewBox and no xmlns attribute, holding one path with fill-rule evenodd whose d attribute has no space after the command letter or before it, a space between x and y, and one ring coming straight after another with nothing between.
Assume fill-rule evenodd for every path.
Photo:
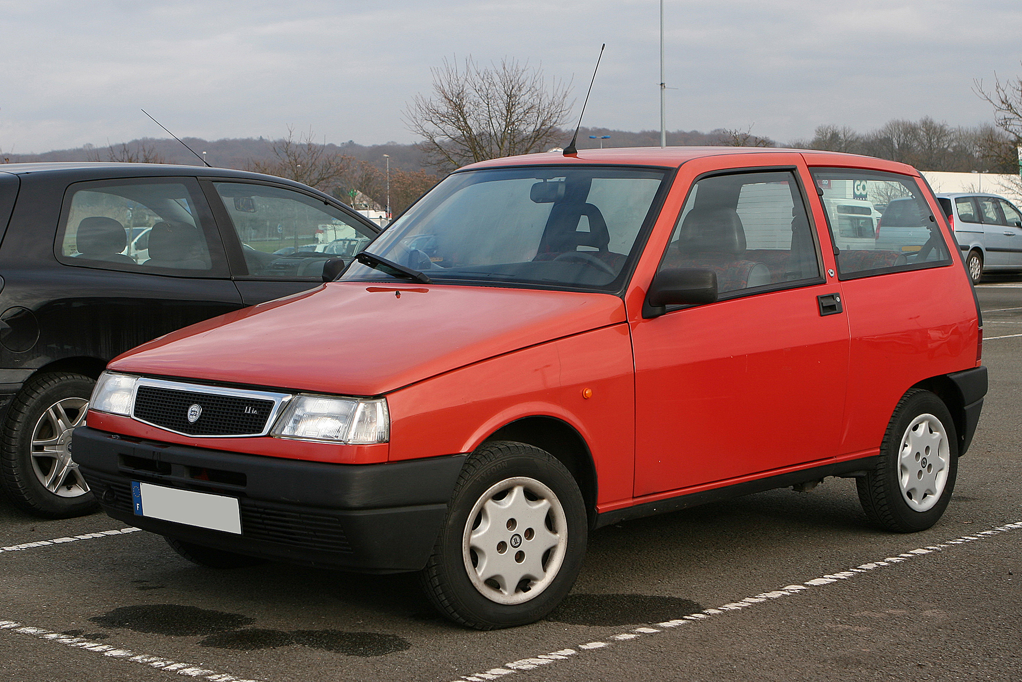
<instances>
[{"instance_id":1,"label":"large bare tree rising behind the red car's roof, left of its antenna","mask_svg":"<svg viewBox=\"0 0 1022 682\"><path fill-rule=\"evenodd\" d=\"M527 61L504 58L487 69L471 56L462 67L445 59L432 74L433 97L416 95L404 116L427 163L442 171L543 149L571 110L570 85L548 83Z\"/></svg>"}]
</instances>

